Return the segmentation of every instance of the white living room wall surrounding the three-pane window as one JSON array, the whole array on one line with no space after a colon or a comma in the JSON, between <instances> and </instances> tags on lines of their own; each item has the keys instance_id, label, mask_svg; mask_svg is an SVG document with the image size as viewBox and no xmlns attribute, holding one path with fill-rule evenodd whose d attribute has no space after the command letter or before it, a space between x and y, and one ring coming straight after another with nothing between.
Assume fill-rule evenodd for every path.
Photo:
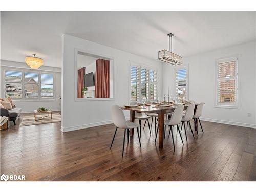
<instances>
[{"instance_id":1,"label":"white living room wall surrounding the three-pane window","mask_svg":"<svg viewBox=\"0 0 256 192\"><path fill-rule=\"evenodd\" d=\"M1 98L4 98L4 71L5 69L12 69L12 70L20 70L20 69L26 69L31 70L31 68L26 64L22 62L14 62L14 61L7 61L7 60L1 60L0 63L1 68ZM60 111L61 110L61 101L59 99L59 96L61 96L61 69L55 68L55 67L48 67L48 66L41 66L36 71L46 71L54 73L54 88L55 88L55 99L54 100L40 100L40 101L20 101L14 100L14 103L17 107L22 108L22 113L29 113L33 112L35 109L40 108L41 106L44 106L46 108L49 108L53 111Z\"/></svg>"}]
</instances>

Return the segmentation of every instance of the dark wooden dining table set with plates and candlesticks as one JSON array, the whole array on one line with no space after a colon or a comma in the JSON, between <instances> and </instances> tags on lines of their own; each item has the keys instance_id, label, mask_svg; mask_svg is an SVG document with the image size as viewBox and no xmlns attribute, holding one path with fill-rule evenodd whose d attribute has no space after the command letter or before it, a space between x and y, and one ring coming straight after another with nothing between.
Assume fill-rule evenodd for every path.
<instances>
[{"instance_id":1,"label":"dark wooden dining table set with plates and candlesticks","mask_svg":"<svg viewBox=\"0 0 256 192\"><path fill-rule=\"evenodd\" d=\"M197 108L197 104L195 106L195 111ZM188 105L184 105L184 110L187 109ZM158 114L158 126L159 126L159 134L158 134L158 145L159 148L163 148L163 140L164 140L164 114L171 113L175 110L176 106L158 106L158 105L148 105L145 106L145 108L142 108L141 106L131 108L129 106L121 106L122 110L129 110L130 111L130 121L134 122L135 121L135 112L140 112L140 113L157 113ZM195 120L195 119L194 119ZM195 131L197 131L197 120L194 121L194 127ZM134 135L134 129L130 131L130 136L133 137Z\"/></svg>"}]
</instances>

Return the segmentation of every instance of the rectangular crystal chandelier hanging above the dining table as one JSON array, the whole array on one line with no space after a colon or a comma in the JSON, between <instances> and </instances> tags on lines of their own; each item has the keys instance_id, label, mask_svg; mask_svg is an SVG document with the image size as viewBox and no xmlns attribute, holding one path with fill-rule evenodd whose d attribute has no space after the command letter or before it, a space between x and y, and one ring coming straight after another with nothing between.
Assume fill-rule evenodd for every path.
<instances>
[{"instance_id":1,"label":"rectangular crystal chandelier hanging above the dining table","mask_svg":"<svg viewBox=\"0 0 256 192\"><path fill-rule=\"evenodd\" d=\"M169 37L169 51L167 50L162 50L158 51L158 60L161 60L163 62L170 63L172 65L180 65L182 64L181 62L181 56L173 53L173 33L169 33L167 35ZM170 40L171 40L171 47L170 47Z\"/></svg>"}]
</instances>

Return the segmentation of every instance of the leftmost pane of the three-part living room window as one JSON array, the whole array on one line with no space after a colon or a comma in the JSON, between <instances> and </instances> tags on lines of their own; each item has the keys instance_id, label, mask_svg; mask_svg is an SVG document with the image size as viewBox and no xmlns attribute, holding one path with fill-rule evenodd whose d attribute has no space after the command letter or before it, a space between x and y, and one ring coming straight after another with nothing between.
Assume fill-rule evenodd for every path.
<instances>
[{"instance_id":1,"label":"leftmost pane of the three-part living room window","mask_svg":"<svg viewBox=\"0 0 256 192\"><path fill-rule=\"evenodd\" d=\"M5 97L22 98L22 72L5 71Z\"/></svg>"}]
</instances>

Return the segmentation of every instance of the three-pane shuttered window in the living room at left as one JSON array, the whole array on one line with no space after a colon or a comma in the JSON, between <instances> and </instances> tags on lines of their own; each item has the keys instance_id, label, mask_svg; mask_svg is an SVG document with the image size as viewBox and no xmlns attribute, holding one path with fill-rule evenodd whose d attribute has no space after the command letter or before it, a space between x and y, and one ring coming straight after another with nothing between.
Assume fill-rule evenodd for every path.
<instances>
[{"instance_id":1,"label":"three-pane shuttered window in the living room at left","mask_svg":"<svg viewBox=\"0 0 256 192\"><path fill-rule=\"evenodd\" d=\"M12 99L54 98L53 74L37 71L5 70L5 97Z\"/></svg>"}]
</instances>

